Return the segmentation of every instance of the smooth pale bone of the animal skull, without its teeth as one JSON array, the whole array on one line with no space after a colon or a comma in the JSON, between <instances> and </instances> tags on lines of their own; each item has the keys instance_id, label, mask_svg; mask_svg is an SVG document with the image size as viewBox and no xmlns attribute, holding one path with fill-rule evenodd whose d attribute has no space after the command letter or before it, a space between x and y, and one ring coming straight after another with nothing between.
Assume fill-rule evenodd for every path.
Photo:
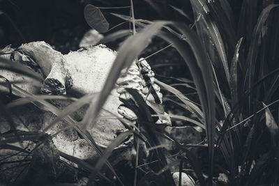
<instances>
[{"instance_id":1,"label":"smooth pale bone of the animal skull, without its teeth","mask_svg":"<svg viewBox=\"0 0 279 186\"><path fill-rule=\"evenodd\" d=\"M52 81L54 84L44 82L44 88L42 89L43 93L66 93L67 95L76 98L85 94L100 92L116 56L116 52L108 49L105 45L80 49L77 52L70 52L67 55L62 55L61 53L56 52L45 42L27 43L22 45L20 49L22 50L22 53L18 53L18 55L30 56L31 59L38 62L43 76L50 77L50 75L52 75L50 78L56 79L55 81ZM7 59L9 59L8 56ZM11 72L6 72L5 75L9 75L8 77L10 78L19 77L19 75L15 75ZM66 86L69 79L72 86ZM50 87L46 85L49 85ZM53 86L59 86L60 88L57 88L55 91ZM40 88L30 86L28 83L22 84L21 87L22 89L27 88L26 91L30 91L32 94L38 94L40 92ZM8 88L4 88L6 88L7 92ZM63 88L65 89L64 91L62 91ZM16 91L13 91L13 93L15 92ZM20 96L22 97L22 95ZM118 98L119 94L116 93L116 90L113 90L112 95L110 95L103 107L116 116L118 115L117 108L121 104ZM68 107L71 103L73 103L72 100L52 101L52 104L54 104L54 106L60 111ZM73 120L82 120L87 108L88 105L84 105L84 107L77 109L71 114ZM54 118L56 118L55 114L50 111L44 110L42 107L35 107L31 104L17 107L14 111L15 115L21 118L21 121L15 119L15 123L20 130L24 131L42 130L52 123ZM125 130L125 127L117 119L111 119L112 117L115 118L115 116L107 113L107 111L101 111L100 116L107 116L107 119L98 120L93 128L89 130L89 133L99 146L105 148L117 136L116 133ZM3 116L0 116L0 121L2 121L0 132L3 133L10 130L10 125ZM22 121L24 121L24 125L22 124ZM68 124L65 121L60 121L57 125L50 128L48 133L54 134L66 126L68 126ZM81 139L73 129L59 133L53 138L53 141L58 150L61 150L68 155L79 157L82 160L92 160L98 157L86 140Z\"/></svg>"}]
</instances>

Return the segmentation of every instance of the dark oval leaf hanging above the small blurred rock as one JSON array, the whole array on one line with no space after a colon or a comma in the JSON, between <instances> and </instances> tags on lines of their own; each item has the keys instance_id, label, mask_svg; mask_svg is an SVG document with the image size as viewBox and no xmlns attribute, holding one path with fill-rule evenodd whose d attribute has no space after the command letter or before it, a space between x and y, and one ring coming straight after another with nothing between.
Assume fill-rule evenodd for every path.
<instances>
[{"instance_id":1,"label":"dark oval leaf hanging above the small blurred rock","mask_svg":"<svg viewBox=\"0 0 279 186\"><path fill-rule=\"evenodd\" d=\"M100 33L105 33L109 30L110 24L96 6L86 5L84 8L84 18L91 28L96 29Z\"/></svg>"}]
</instances>

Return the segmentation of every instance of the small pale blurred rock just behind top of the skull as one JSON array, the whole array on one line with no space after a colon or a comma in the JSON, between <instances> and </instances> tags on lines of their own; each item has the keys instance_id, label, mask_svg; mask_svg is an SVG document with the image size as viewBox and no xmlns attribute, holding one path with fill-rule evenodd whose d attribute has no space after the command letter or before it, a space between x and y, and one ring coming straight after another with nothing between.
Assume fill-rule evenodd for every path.
<instances>
[{"instance_id":1,"label":"small pale blurred rock just behind top of the skull","mask_svg":"<svg viewBox=\"0 0 279 186\"><path fill-rule=\"evenodd\" d=\"M87 31L82 40L80 41L80 48L89 47L90 45L96 45L104 36L95 29Z\"/></svg>"}]
</instances>

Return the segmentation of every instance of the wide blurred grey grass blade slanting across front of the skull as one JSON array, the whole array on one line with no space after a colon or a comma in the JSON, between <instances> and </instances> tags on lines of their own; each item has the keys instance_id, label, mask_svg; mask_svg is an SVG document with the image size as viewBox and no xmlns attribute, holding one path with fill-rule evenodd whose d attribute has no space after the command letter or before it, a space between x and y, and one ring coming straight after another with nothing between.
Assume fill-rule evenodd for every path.
<instances>
[{"instance_id":1,"label":"wide blurred grey grass blade slanting across front of the skull","mask_svg":"<svg viewBox=\"0 0 279 186\"><path fill-rule=\"evenodd\" d=\"M89 127L89 125L95 123L98 113L101 107L103 107L107 96L110 95L112 88L114 88L114 84L119 77L121 70L129 67L131 63L133 63L136 57L139 56L140 52L142 52L142 50L149 44L151 38L155 36L166 23L167 22L155 22L150 24L135 36L130 36L123 42L110 70L110 76L107 77L100 95L96 98L96 103L90 104L89 109L86 111L82 121L83 127Z\"/></svg>"}]
</instances>

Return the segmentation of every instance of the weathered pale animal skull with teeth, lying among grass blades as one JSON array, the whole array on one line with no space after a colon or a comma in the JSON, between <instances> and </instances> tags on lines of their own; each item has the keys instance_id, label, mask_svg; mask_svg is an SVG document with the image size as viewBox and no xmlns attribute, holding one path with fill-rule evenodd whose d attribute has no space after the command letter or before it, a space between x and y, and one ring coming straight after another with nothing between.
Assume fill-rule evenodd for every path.
<instances>
[{"instance_id":1,"label":"weathered pale animal skull with teeth, lying among grass blades","mask_svg":"<svg viewBox=\"0 0 279 186\"><path fill-rule=\"evenodd\" d=\"M112 63L116 57L116 52L108 49L105 45L98 45L95 47L89 46L80 49L77 52L70 52L66 55L55 51L45 42L30 42L20 46L18 50L9 49L10 52L12 52L13 57L18 59L18 61L24 65L27 64L34 72L40 73L41 77L45 77L45 81L41 88L29 84L29 82L20 84L20 88L24 91L20 91L20 88L12 86L13 94L20 97L30 95L25 93L25 91L28 91L31 95L38 95L41 92L48 95L66 94L75 98L98 93L102 90L103 86L105 86L105 79L107 79ZM10 56L7 55L5 57L10 60L12 55L10 54ZM13 61L10 61L10 63L13 63ZM136 80L136 83L129 84L128 87L137 87L141 95L146 98L146 104L156 111L157 114L162 115L158 116L159 120L157 123L170 125L169 117L165 114L162 106L162 94L160 93L160 88L154 84L153 81L154 73L151 71L148 63L142 64L141 73L144 79L140 77L140 69L137 65L133 65L128 72L131 72L132 74L136 73L135 77L137 77L137 79L132 79ZM3 73L1 73L1 75L7 76L8 80L18 80L17 78L21 78L21 75L17 75L14 72L2 71ZM15 79L13 79L14 77ZM122 81L124 82L129 82L131 80L129 80L130 77L125 75L121 78L123 78ZM20 80L25 81L25 77L22 77ZM142 82L144 82L143 86ZM1 91L3 89L5 93L9 92L8 87L0 87ZM107 98L107 101L103 106L103 111L100 111L98 116L102 119L98 119L88 131L100 148L106 148L111 144L115 137L117 137L119 131L126 130L123 124L116 119L116 116L119 114L117 109L120 110L121 107L124 107L119 100L119 97L121 97L119 93L124 96L123 98L131 98L123 88L126 88L125 84L119 86L119 89L117 90L118 92L116 89L112 90L109 98ZM149 93L146 88L150 89L151 92ZM56 109L42 107L41 104L36 102L34 103L35 105L30 103L13 108L13 118L15 118L14 123L17 130L40 132L54 121L56 115L59 115L60 111L63 111L63 109L66 109L66 107L72 104L73 100L50 100L49 103L52 104L53 107L56 107ZM75 111L70 114L70 120L76 124L78 121L81 121L89 107L88 103L89 102L86 102L81 108L76 108ZM127 116L128 119L132 121L135 120L135 114L133 115L131 111L125 109L122 110L124 111L124 114L129 115L130 118ZM107 111L110 111L110 113ZM0 134L8 132L10 130L10 125L8 121L6 121L6 118L0 116L0 121ZM53 135L65 129L65 127L68 127L68 123L66 123L66 121L59 121L56 125L47 130L47 133ZM98 154L81 136L82 135L76 130L70 128L54 135L52 141L55 148L57 148L57 152L66 153L67 155L78 157L89 162L95 161L99 157ZM128 148L130 143L131 141L128 140L118 147L118 149L121 148L122 154L119 155L118 158L112 160L112 162L116 164L122 160L131 160L133 153L131 153L131 148ZM27 144L24 145L24 148L26 147ZM128 151L125 151L125 149ZM37 160L44 157L40 153L37 155ZM52 173L50 172L50 174Z\"/></svg>"}]
</instances>

